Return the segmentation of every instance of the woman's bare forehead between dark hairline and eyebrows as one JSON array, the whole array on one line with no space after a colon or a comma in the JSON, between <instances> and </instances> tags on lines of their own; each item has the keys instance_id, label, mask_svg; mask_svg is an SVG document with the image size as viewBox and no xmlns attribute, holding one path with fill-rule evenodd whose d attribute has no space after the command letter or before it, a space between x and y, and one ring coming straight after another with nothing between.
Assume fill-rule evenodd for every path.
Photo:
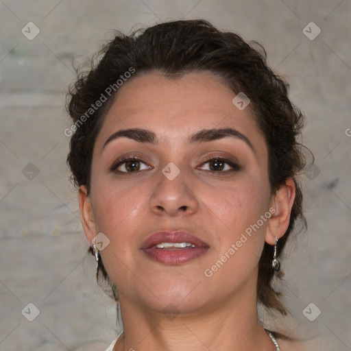
<instances>
[{"instance_id":1,"label":"woman's bare forehead between dark hairline and eyebrows","mask_svg":"<svg viewBox=\"0 0 351 351\"><path fill-rule=\"evenodd\" d=\"M250 134L264 147L250 105L239 110L236 94L213 73L188 73L169 79L160 73L143 73L125 82L106 114L97 147L117 130L153 130L160 141L187 135L202 128L235 128Z\"/></svg>"}]
</instances>

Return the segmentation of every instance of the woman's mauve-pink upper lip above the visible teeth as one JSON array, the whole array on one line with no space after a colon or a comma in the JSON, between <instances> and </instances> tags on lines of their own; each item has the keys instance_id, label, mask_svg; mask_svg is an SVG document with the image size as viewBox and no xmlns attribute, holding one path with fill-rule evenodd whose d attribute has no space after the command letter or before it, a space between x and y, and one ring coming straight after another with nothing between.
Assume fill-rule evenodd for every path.
<instances>
[{"instance_id":1,"label":"woman's mauve-pink upper lip above the visible teeth","mask_svg":"<svg viewBox=\"0 0 351 351\"><path fill-rule=\"evenodd\" d=\"M145 239L142 245L142 249L148 249L159 243L191 243L197 247L208 247L204 241L201 241L195 235L186 232L185 230L162 230L159 232L154 232L150 234L149 237Z\"/></svg>"}]
</instances>

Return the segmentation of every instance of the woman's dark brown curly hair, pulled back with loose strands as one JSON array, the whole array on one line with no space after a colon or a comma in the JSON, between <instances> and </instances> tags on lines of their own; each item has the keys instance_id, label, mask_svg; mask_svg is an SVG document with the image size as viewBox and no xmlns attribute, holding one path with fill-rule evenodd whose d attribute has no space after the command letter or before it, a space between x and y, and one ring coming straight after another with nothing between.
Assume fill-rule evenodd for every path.
<instances>
[{"instance_id":1,"label":"woman's dark brown curly hair, pulled back with loose strands","mask_svg":"<svg viewBox=\"0 0 351 351\"><path fill-rule=\"evenodd\" d=\"M289 227L279 241L279 257L295 229L295 222L299 219L306 228L299 180L305 165L304 146L298 141L304 115L291 104L289 84L267 66L266 56L265 49L258 43L246 43L239 35L221 32L204 20L161 23L130 36L117 32L93 58L88 71L77 70L77 80L67 94L66 108L75 123L71 128L74 133L71 133L67 156L73 182L76 186L85 185L89 195L95 139L118 94L120 85L116 80L119 77L127 77L126 72L132 72L132 80L140 73L158 72L176 80L190 72L214 73L235 94L242 92L251 101L254 119L267 144L271 193L274 194L287 178L293 178L295 182L295 201ZM113 92L111 88L108 90L110 86ZM101 108L93 109L95 101L102 96L106 102ZM84 123L79 123L84 116ZM91 247L89 250L91 252ZM265 243L258 265L257 299L268 309L274 308L287 315L287 308L280 301L281 293L271 286L274 277L272 250L273 247ZM118 306L117 289L101 260L99 273L112 289L112 297ZM100 280L98 274L97 282Z\"/></svg>"}]
</instances>

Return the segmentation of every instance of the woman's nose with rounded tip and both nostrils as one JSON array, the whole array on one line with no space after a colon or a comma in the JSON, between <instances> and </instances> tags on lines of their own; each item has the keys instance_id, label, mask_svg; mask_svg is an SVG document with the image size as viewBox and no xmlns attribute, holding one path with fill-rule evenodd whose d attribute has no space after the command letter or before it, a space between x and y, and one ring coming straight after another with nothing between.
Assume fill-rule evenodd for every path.
<instances>
[{"instance_id":1,"label":"woman's nose with rounded tip and both nostrils","mask_svg":"<svg viewBox=\"0 0 351 351\"><path fill-rule=\"evenodd\" d=\"M160 172L158 184L149 199L149 207L156 215L191 215L197 212L199 201L194 186L185 171L171 180Z\"/></svg>"}]
</instances>

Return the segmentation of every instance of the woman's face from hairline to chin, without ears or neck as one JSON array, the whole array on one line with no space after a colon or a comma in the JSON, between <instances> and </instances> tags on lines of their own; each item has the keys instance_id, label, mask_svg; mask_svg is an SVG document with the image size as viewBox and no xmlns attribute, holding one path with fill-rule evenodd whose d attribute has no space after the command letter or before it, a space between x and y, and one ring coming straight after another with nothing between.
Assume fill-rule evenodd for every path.
<instances>
[{"instance_id":1,"label":"woman's face from hairline to chin, without ears or neck","mask_svg":"<svg viewBox=\"0 0 351 351\"><path fill-rule=\"evenodd\" d=\"M255 293L274 202L267 145L250 105L239 109L210 73L139 75L118 93L95 143L86 236L90 243L99 232L108 237L101 258L121 302L191 312ZM131 128L154 140L110 138ZM156 242L145 240L162 230L202 243L191 248L185 236L173 247L147 248Z\"/></svg>"}]
</instances>

